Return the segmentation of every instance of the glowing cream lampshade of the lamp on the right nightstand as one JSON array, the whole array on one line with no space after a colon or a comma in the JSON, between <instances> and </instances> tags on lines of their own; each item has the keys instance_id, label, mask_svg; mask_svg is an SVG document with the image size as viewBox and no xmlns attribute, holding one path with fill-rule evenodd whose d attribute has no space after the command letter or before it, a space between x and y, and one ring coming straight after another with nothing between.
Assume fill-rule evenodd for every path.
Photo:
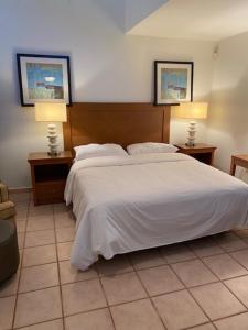
<instances>
[{"instance_id":1,"label":"glowing cream lampshade of the lamp on the right nightstand","mask_svg":"<svg viewBox=\"0 0 248 330\"><path fill-rule=\"evenodd\" d=\"M206 102L181 103L173 108L175 118L205 119L207 118Z\"/></svg>"}]
</instances>

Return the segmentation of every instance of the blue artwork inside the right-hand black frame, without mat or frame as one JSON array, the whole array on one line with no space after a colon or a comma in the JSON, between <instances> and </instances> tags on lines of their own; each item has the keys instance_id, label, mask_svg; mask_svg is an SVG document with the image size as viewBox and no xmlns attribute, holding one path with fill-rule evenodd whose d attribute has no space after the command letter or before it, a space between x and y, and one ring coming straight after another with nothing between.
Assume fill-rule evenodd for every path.
<instances>
[{"instance_id":1,"label":"blue artwork inside the right-hand black frame, without mat or frame","mask_svg":"<svg viewBox=\"0 0 248 330\"><path fill-rule=\"evenodd\" d=\"M161 69L161 98L182 100L187 92L186 68L162 68Z\"/></svg>"}]
</instances>

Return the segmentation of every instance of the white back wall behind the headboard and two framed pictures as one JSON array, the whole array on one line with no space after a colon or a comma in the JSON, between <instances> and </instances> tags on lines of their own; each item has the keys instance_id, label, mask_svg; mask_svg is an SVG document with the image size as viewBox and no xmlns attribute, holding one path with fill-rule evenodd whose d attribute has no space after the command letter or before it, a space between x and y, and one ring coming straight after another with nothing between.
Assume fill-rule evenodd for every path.
<instances>
[{"instance_id":1,"label":"white back wall behind the headboard and two framed pictures","mask_svg":"<svg viewBox=\"0 0 248 330\"><path fill-rule=\"evenodd\" d=\"M0 0L0 177L10 187L30 186L28 153L46 150L45 124L20 107L17 52L69 55L74 101L152 101L154 59L194 61L195 99L208 99L213 44L125 35L119 3ZM172 121L171 141L185 130Z\"/></svg>"}]
</instances>

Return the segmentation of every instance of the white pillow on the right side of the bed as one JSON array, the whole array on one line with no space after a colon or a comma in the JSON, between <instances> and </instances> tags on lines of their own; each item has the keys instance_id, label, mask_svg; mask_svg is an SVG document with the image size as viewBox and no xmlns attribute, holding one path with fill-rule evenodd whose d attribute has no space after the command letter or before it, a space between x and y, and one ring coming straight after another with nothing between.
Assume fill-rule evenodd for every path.
<instances>
[{"instance_id":1,"label":"white pillow on the right side of the bed","mask_svg":"<svg viewBox=\"0 0 248 330\"><path fill-rule=\"evenodd\" d=\"M158 143L158 142L134 143L127 146L127 151L130 155L153 154L153 153L175 153L177 150L179 148L173 144Z\"/></svg>"}]
</instances>

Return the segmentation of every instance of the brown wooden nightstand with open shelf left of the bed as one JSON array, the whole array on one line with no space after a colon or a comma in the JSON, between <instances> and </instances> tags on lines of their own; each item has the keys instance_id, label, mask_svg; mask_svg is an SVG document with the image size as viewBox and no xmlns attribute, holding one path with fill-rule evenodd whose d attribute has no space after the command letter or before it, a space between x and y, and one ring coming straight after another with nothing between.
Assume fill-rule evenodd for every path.
<instances>
[{"instance_id":1,"label":"brown wooden nightstand with open shelf left of the bed","mask_svg":"<svg viewBox=\"0 0 248 330\"><path fill-rule=\"evenodd\" d=\"M29 154L34 205L64 201L65 183L72 161L73 156L68 151L58 156L50 156L47 153Z\"/></svg>"}]
</instances>

